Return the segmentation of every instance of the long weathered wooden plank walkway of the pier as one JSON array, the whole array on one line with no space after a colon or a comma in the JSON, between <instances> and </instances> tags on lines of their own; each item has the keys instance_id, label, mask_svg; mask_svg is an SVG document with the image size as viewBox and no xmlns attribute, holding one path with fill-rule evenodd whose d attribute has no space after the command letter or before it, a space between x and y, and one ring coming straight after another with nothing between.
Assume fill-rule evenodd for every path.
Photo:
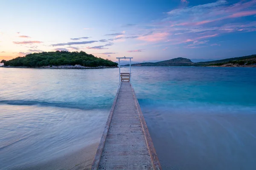
<instances>
[{"instance_id":1,"label":"long weathered wooden plank walkway of the pier","mask_svg":"<svg viewBox=\"0 0 256 170\"><path fill-rule=\"evenodd\" d=\"M91 169L161 170L130 82L119 85Z\"/></svg>"}]
</instances>

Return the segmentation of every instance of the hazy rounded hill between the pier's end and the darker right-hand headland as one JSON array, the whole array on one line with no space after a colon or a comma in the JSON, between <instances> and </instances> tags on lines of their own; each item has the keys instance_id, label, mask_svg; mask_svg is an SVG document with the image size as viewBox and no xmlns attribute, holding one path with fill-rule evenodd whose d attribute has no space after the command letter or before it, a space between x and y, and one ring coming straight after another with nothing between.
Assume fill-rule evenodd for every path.
<instances>
[{"instance_id":1,"label":"hazy rounded hill between the pier's end and the darker right-hand headland","mask_svg":"<svg viewBox=\"0 0 256 170\"><path fill-rule=\"evenodd\" d=\"M193 62L190 59L179 57L160 62L143 62L139 64L133 64L132 66L189 66L192 64Z\"/></svg>"}]
</instances>

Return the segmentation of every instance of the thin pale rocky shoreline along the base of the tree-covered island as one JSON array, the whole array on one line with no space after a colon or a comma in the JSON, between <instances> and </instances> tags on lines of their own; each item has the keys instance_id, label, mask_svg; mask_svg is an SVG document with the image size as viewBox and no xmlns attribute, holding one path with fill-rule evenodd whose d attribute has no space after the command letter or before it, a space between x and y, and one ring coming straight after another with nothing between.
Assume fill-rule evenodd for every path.
<instances>
[{"instance_id":1,"label":"thin pale rocky shoreline along the base of the tree-covered island","mask_svg":"<svg viewBox=\"0 0 256 170\"><path fill-rule=\"evenodd\" d=\"M13 66L0 66L3 68L48 68L48 69L99 69L99 68L117 68L117 67L106 67L106 66L98 66L98 67L84 67L81 65L58 65L58 66L42 66L42 67L13 67Z\"/></svg>"}]
</instances>

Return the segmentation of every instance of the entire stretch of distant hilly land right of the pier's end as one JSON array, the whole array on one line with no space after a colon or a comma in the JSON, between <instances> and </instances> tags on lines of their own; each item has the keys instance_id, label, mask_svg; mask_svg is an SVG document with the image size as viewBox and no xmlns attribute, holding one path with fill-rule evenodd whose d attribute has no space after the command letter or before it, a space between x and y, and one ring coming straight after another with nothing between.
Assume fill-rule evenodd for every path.
<instances>
[{"instance_id":1,"label":"entire stretch of distant hilly land right of the pier's end","mask_svg":"<svg viewBox=\"0 0 256 170\"><path fill-rule=\"evenodd\" d=\"M124 65L128 66L128 65ZM190 59L178 57L160 62L143 62L132 66L206 66L206 67L256 67L256 55L221 59L208 62L192 62Z\"/></svg>"}]
</instances>

